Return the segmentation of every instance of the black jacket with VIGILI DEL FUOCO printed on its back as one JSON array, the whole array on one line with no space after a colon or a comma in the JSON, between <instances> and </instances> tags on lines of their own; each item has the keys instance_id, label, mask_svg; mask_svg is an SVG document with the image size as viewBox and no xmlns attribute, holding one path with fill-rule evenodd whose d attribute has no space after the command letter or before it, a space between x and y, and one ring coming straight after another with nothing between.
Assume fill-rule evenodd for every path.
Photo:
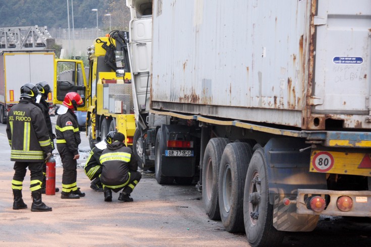
<instances>
[{"instance_id":1,"label":"black jacket with VIGILI DEL FUOCO printed on its back","mask_svg":"<svg viewBox=\"0 0 371 247\"><path fill-rule=\"evenodd\" d=\"M42 162L44 154L51 153L50 138L43 119L42 111L32 99L21 99L10 109L7 135L12 147L12 161Z\"/></svg>"}]
</instances>

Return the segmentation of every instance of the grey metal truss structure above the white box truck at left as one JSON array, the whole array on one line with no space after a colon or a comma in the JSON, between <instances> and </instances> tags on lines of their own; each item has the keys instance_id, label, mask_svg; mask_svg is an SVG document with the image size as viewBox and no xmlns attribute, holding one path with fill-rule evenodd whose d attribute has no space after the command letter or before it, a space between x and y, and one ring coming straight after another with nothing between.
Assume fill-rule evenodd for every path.
<instances>
[{"instance_id":1,"label":"grey metal truss structure above the white box truck at left","mask_svg":"<svg viewBox=\"0 0 371 247\"><path fill-rule=\"evenodd\" d=\"M0 27L0 51L44 50L49 38L46 26Z\"/></svg>"}]
</instances>

